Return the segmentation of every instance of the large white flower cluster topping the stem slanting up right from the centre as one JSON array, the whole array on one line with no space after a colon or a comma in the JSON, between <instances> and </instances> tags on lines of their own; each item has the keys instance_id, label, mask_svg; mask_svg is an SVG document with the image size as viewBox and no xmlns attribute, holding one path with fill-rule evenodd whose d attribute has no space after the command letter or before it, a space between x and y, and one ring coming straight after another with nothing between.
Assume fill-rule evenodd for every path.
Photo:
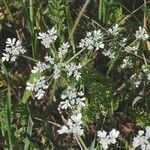
<instances>
[{"instance_id":1,"label":"large white flower cluster topping the stem slanting up right from the centre","mask_svg":"<svg viewBox=\"0 0 150 150\"><path fill-rule=\"evenodd\" d=\"M96 49L99 50L100 48L104 48L103 43L103 33L101 30L94 30L92 32L88 32L84 39L81 39L79 43L80 48L87 48L89 50Z\"/></svg>"}]
</instances>

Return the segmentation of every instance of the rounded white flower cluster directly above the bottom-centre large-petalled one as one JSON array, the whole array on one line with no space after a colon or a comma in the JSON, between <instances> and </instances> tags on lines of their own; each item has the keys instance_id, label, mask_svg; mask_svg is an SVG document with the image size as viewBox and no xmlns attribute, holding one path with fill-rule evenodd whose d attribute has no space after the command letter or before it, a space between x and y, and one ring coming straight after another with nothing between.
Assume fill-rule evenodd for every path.
<instances>
[{"instance_id":1,"label":"rounded white flower cluster directly above the bottom-centre large-petalled one","mask_svg":"<svg viewBox=\"0 0 150 150\"><path fill-rule=\"evenodd\" d=\"M77 108L80 110L82 107L85 106L85 97L84 93L82 91L78 92L76 88L69 86L65 93L61 96L62 102L60 102L60 108L61 109L73 109Z\"/></svg>"}]
</instances>

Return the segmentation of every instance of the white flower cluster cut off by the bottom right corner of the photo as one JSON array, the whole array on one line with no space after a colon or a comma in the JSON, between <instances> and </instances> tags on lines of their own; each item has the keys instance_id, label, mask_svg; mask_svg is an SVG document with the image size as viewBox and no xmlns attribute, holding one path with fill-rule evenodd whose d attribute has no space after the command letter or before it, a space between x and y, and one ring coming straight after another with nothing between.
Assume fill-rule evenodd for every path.
<instances>
[{"instance_id":1,"label":"white flower cluster cut off by the bottom right corner of the photo","mask_svg":"<svg viewBox=\"0 0 150 150\"><path fill-rule=\"evenodd\" d=\"M146 132L144 130L139 130L138 135L133 139L133 149L140 147L142 150L150 150L150 127L146 127Z\"/></svg>"}]
</instances>

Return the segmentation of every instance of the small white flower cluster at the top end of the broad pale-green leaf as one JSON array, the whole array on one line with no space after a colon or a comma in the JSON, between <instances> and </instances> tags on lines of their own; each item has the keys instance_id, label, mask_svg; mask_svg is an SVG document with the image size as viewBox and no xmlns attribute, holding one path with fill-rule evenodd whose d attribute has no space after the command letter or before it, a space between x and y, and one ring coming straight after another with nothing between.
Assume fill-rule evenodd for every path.
<instances>
[{"instance_id":1,"label":"small white flower cluster at the top end of the broad pale-green leaf","mask_svg":"<svg viewBox=\"0 0 150 150\"><path fill-rule=\"evenodd\" d=\"M45 64L45 63L42 63L42 62L38 62L37 64L36 64L36 66L34 66L33 67L33 69L32 69L32 73L37 73L37 72L43 72L43 71L45 71L46 69L48 69L50 66L49 65L47 65L47 64Z\"/></svg>"}]
</instances>

